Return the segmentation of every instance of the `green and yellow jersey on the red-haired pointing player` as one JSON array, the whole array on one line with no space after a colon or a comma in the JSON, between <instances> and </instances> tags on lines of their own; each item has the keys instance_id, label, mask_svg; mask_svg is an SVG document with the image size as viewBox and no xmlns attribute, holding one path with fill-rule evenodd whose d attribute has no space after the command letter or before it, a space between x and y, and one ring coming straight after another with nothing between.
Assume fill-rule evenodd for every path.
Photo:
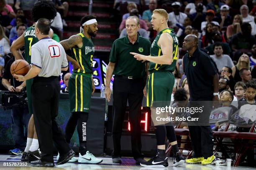
<instances>
[{"instance_id":1,"label":"green and yellow jersey on the red-haired pointing player","mask_svg":"<svg viewBox=\"0 0 256 170\"><path fill-rule=\"evenodd\" d=\"M151 48L150 48L150 55L151 56L154 56L154 57L158 57L160 55L163 55L162 51L161 51L161 47L159 47L157 45L157 41L159 40L160 36L162 33L169 33L172 38L173 38L173 46L172 46L172 49L173 49L173 59L172 59L172 64L171 65L166 65L166 64L156 64L154 62L150 62L149 64L149 69L148 71L150 73L152 72L156 72L156 71L169 71L169 72L173 72L175 70L175 67L176 67L176 62L177 62L177 55L178 55L178 45L179 45L179 42L178 42L178 38L176 37L176 35L174 34L173 32L173 29L169 29L169 28L166 28L162 31L159 32L159 35L156 36L154 42L152 43L151 45Z\"/></svg>"}]
</instances>

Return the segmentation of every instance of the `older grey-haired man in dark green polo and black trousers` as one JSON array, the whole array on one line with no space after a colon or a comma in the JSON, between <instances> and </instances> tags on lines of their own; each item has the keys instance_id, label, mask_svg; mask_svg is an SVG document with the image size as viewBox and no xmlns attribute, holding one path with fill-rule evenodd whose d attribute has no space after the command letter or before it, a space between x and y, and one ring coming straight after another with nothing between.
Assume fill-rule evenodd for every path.
<instances>
[{"instance_id":1,"label":"older grey-haired man in dark green polo and black trousers","mask_svg":"<svg viewBox=\"0 0 256 170\"><path fill-rule=\"evenodd\" d=\"M137 61L130 52L150 54L150 42L138 35L139 19L130 16L125 22L127 36L115 40L110 52L110 62L106 74L105 96L110 101L110 80L114 73L113 84L113 163L121 162L121 133L127 100L130 107L131 146L136 164L145 162L141 154L141 104L146 82L146 63ZM146 93L146 89L145 89ZM145 95L144 93L144 95Z\"/></svg>"}]
</instances>

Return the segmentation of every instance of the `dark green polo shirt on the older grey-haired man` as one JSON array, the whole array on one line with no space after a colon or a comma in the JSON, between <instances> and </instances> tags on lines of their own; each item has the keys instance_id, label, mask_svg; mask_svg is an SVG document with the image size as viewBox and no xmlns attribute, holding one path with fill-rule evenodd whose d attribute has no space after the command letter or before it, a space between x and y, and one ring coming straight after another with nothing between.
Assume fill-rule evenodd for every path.
<instances>
[{"instance_id":1,"label":"dark green polo shirt on the older grey-haired man","mask_svg":"<svg viewBox=\"0 0 256 170\"><path fill-rule=\"evenodd\" d=\"M115 63L114 75L143 77L146 74L146 63L136 60L130 52L150 55L150 42L138 35L132 44L127 35L113 42L109 61Z\"/></svg>"}]
</instances>

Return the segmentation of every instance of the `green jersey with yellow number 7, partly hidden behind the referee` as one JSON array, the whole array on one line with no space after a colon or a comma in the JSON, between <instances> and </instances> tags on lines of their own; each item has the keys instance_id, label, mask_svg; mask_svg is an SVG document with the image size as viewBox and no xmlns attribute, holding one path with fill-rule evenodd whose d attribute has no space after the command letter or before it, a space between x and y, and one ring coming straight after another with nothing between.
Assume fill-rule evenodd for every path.
<instances>
[{"instance_id":1,"label":"green jersey with yellow number 7, partly hidden behind the referee","mask_svg":"<svg viewBox=\"0 0 256 170\"><path fill-rule=\"evenodd\" d=\"M38 38L35 35L35 25L29 27L24 33L25 39L25 60L31 64L31 46L38 42Z\"/></svg>"}]
</instances>

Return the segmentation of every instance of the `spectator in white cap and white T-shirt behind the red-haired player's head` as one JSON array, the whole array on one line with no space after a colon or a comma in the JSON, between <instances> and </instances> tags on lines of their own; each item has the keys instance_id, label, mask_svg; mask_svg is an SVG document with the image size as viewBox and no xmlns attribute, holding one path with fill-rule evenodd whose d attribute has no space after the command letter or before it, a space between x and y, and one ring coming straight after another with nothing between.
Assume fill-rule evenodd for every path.
<instances>
[{"instance_id":1,"label":"spectator in white cap and white T-shirt behind the red-haired player's head","mask_svg":"<svg viewBox=\"0 0 256 170\"><path fill-rule=\"evenodd\" d=\"M180 12L181 4L180 2L173 2L172 8L173 12L169 13L169 27L177 28L177 24L183 25L187 14Z\"/></svg>"}]
</instances>

